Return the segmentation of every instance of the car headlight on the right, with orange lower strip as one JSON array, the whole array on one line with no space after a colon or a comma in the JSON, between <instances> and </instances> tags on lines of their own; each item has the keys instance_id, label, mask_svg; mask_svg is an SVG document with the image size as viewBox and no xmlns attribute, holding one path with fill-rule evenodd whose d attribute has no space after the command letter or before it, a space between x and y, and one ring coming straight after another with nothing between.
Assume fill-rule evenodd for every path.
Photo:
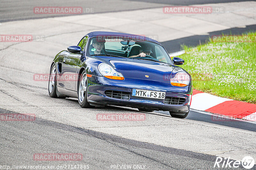
<instances>
[{"instance_id":1,"label":"car headlight on the right, with orange lower strip","mask_svg":"<svg viewBox=\"0 0 256 170\"><path fill-rule=\"evenodd\" d=\"M190 77L185 72L178 72L174 78L171 79L173 86L185 87L189 84Z\"/></svg>"}]
</instances>

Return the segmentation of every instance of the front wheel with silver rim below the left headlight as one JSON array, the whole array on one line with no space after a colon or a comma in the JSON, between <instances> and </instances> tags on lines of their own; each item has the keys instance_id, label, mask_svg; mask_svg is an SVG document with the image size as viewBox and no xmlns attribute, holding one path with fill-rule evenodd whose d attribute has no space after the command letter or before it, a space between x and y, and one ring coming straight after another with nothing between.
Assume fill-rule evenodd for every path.
<instances>
[{"instance_id":1,"label":"front wheel with silver rim below the left headlight","mask_svg":"<svg viewBox=\"0 0 256 170\"><path fill-rule=\"evenodd\" d=\"M82 88L83 84L81 84L81 83L85 83L83 88ZM78 92L77 92L78 103L82 108L91 108L90 103L87 101L87 93L88 93L87 87L88 87L87 75L84 70L83 73L81 74L81 77L79 78ZM86 90L84 91L85 88L86 88Z\"/></svg>"}]
</instances>

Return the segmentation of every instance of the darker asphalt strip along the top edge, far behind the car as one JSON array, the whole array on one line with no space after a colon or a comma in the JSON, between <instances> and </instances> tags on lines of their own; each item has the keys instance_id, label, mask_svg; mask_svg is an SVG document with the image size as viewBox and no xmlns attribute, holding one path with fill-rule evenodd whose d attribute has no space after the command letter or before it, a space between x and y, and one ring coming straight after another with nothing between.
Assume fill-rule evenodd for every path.
<instances>
[{"instance_id":1,"label":"darker asphalt strip along the top edge, far behind the car","mask_svg":"<svg viewBox=\"0 0 256 170\"><path fill-rule=\"evenodd\" d=\"M164 7L166 5L196 5L196 4L212 4L212 3L225 3L225 2L242 2L246 0L76 0L72 2L63 2L62 0L52 1L19 1L19 0L2 0L1 18L0 22L24 20L32 18L47 18L47 17L61 17L67 15L54 15L54 14L41 14L36 16L33 13L35 6L81 6L87 10L85 14L104 13L104 12L117 12L117 11L131 11L139 9L148 9L156 7Z\"/></svg>"}]
</instances>

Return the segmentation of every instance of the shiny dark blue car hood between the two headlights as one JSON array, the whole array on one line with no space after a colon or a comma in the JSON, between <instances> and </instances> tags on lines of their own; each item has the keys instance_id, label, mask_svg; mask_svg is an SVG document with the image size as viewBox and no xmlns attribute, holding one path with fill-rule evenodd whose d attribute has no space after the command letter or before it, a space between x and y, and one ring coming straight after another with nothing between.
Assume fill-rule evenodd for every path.
<instances>
[{"instance_id":1,"label":"shiny dark blue car hood between the two headlights","mask_svg":"<svg viewBox=\"0 0 256 170\"><path fill-rule=\"evenodd\" d=\"M175 66L147 60L105 58L102 59L118 69L125 78L170 82Z\"/></svg>"}]
</instances>

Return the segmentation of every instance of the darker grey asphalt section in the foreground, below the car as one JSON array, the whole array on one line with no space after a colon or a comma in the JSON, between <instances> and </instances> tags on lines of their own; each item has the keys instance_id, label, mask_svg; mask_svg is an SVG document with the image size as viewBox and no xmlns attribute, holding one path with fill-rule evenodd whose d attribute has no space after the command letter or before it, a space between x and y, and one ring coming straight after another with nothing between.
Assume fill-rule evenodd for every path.
<instances>
[{"instance_id":1,"label":"darker grey asphalt section in the foreground, below the car","mask_svg":"<svg viewBox=\"0 0 256 170\"><path fill-rule=\"evenodd\" d=\"M1 110L4 111L10 113ZM34 153L49 150L53 153L82 153L86 158L72 164L89 165L92 169L109 169L117 163L144 165L145 169L194 169L202 166L210 169L216 159L211 155L120 138L41 118L33 123L19 122L15 125L4 122L1 127L1 138L5 143L1 154L10 155L2 157L1 164L7 165L22 165L24 162L26 165L44 165L43 161L35 162L31 157ZM20 159L17 160L16 156ZM49 163L55 166L62 164L66 163Z\"/></svg>"}]
</instances>

